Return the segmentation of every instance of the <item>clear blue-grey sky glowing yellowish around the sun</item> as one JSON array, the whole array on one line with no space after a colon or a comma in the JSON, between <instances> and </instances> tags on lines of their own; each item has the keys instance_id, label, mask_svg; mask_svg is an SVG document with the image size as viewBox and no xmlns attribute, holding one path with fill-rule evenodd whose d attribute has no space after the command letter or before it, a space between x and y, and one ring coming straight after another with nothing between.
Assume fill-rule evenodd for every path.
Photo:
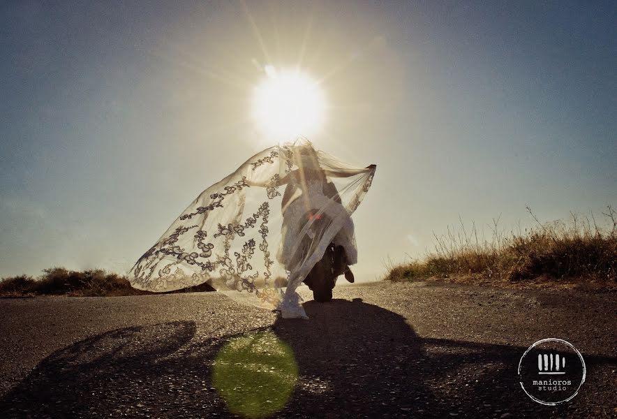
<instances>
[{"instance_id":1,"label":"clear blue-grey sky glowing yellowish around the sun","mask_svg":"<svg viewBox=\"0 0 617 419\"><path fill-rule=\"evenodd\" d=\"M265 65L320 80L310 140L376 163L357 276L459 216L503 228L617 206L614 1L0 4L0 276L128 270L274 145ZM488 232L488 228L486 228Z\"/></svg>"}]
</instances>

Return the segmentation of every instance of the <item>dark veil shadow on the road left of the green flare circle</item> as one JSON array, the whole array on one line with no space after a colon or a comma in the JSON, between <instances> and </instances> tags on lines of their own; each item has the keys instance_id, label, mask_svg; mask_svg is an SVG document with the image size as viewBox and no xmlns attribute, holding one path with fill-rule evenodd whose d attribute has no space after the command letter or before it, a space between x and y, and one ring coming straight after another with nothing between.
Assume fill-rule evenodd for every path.
<instances>
[{"instance_id":1,"label":"dark veil shadow on the road left of the green flare circle","mask_svg":"<svg viewBox=\"0 0 617 419\"><path fill-rule=\"evenodd\" d=\"M181 350L195 330L190 321L117 329L56 351L3 397L0 417L181 417L202 411L191 392L206 385L202 362L211 353Z\"/></svg>"}]
</instances>

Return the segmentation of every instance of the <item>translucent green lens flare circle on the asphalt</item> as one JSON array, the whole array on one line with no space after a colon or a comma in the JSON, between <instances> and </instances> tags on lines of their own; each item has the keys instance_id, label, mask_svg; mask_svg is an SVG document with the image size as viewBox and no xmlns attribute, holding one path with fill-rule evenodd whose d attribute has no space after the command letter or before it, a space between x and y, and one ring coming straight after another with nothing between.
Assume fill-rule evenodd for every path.
<instances>
[{"instance_id":1,"label":"translucent green lens flare circle on the asphalt","mask_svg":"<svg viewBox=\"0 0 617 419\"><path fill-rule=\"evenodd\" d=\"M248 418L281 411L298 378L292 348L273 332L228 341L216 355L212 381L228 409Z\"/></svg>"}]
</instances>

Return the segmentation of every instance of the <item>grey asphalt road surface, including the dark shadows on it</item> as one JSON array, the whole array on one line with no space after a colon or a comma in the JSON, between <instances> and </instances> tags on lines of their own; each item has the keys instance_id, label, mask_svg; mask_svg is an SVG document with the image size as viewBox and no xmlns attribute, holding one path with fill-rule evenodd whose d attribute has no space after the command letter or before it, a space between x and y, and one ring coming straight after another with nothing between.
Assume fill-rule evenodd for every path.
<instances>
[{"instance_id":1,"label":"grey asphalt road surface, including the dark shadows on it","mask_svg":"<svg viewBox=\"0 0 617 419\"><path fill-rule=\"evenodd\" d=\"M614 294L385 282L337 286L320 304L306 291L309 321L220 293L1 299L0 418L234 417L214 359L257 332L288 344L297 364L275 417L617 416ZM546 337L587 364L579 394L553 407L516 374Z\"/></svg>"}]
</instances>

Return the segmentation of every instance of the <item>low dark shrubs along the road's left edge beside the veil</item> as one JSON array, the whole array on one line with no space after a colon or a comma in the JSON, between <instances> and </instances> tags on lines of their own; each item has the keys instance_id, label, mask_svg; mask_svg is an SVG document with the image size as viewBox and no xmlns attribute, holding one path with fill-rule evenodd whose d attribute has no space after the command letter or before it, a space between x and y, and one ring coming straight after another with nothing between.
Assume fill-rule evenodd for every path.
<instances>
[{"instance_id":1,"label":"low dark shrubs along the road's left edge beside the veil","mask_svg":"<svg viewBox=\"0 0 617 419\"><path fill-rule=\"evenodd\" d=\"M173 292L213 291L208 284ZM34 295L73 295L84 297L111 297L119 295L154 294L131 287L124 275L105 270L72 271L64 267L43 270L43 275L3 278L0 281L0 296L27 297Z\"/></svg>"}]
</instances>

